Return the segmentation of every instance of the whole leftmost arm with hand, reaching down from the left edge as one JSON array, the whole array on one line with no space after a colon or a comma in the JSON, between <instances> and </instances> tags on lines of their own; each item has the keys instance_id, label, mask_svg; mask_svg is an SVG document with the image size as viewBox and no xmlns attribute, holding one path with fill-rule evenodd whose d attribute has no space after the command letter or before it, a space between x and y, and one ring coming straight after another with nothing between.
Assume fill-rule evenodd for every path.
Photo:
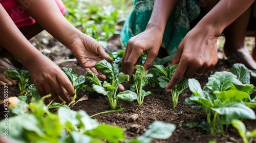
<instances>
[{"instance_id":1,"label":"whole leftmost arm with hand, reaching down from the left edge","mask_svg":"<svg viewBox=\"0 0 256 143\"><path fill-rule=\"evenodd\" d=\"M69 95L74 96L75 91L65 73L26 39L1 4L0 17L0 44L27 67L39 94L51 93L55 101L61 102L61 98L70 103Z\"/></svg>"}]
</instances>

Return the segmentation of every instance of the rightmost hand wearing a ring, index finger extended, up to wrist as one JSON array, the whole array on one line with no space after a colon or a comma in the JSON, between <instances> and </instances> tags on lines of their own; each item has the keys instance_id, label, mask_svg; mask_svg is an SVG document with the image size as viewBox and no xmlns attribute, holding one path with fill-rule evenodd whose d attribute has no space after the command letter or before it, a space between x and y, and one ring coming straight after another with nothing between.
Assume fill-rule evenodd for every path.
<instances>
[{"instance_id":1,"label":"rightmost hand wearing a ring, index finger extended, up to wrist","mask_svg":"<svg viewBox=\"0 0 256 143\"><path fill-rule=\"evenodd\" d=\"M166 92L169 92L182 77L200 76L216 65L218 62L217 39L218 36L212 36L195 28L187 33L172 60L172 65L179 65L165 88Z\"/></svg>"}]
</instances>

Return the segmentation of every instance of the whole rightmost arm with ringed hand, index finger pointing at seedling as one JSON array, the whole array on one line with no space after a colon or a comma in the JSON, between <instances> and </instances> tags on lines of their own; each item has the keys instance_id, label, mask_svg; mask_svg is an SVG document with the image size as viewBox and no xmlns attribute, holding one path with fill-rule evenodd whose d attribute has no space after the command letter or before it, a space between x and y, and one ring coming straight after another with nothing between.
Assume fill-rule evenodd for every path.
<instances>
[{"instance_id":1,"label":"whole rightmost arm with ringed hand, index finger pointing at seedling","mask_svg":"<svg viewBox=\"0 0 256 143\"><path fill-rule=\"evenodd\" d=\"M242 15L254 1L220 1L187 33L171 64L179 64L166 86L169 92L182 77L206 73L218 61L217 40L223 30ZM197 74L195 74L197 73Z\"/></svg>"}]
</instances>

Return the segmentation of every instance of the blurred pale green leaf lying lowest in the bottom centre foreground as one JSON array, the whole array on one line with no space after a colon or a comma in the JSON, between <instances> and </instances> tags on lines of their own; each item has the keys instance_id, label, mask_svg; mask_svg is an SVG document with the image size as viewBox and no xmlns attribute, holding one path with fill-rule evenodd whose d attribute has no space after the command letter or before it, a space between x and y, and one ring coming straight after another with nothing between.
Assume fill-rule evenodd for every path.
<instances>
[{"instance_id":1,"label":"blurred pale green leaf lying lowest in the bottom centre foreground","mask_svg":"<svg viewBox=\"0 0 256 143\"><path fill-rule=\"evenodd\" d=\"M148 138L167 139L172 136L175 129L176 126L174 124L155 121L148 126L148 129L143 136Z\"/></svg>"}]
</instances>

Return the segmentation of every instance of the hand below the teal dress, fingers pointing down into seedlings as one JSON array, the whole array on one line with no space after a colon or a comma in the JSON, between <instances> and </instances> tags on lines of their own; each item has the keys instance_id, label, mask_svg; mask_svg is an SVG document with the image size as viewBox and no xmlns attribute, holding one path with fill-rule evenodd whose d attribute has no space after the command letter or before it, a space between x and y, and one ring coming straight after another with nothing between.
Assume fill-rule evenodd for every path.
<instances>
[{"instance_id":1,"label":"hand below the teal dress, fingers pointing down into seedlings","mask_svg":"<svg viewBox=\"0 0 256 143\"><path fill-rule=\"evenodd\" d=\"M125 52L122 58L122 72L130 76L132 82L134 65L140 55L144 52L147 58L143 64L145 70L148 70L153 65L155 58L158 55L163 35L156 29L146 29L144 32L132 37L126 45Z\"/></svg>"}]
</instances>

